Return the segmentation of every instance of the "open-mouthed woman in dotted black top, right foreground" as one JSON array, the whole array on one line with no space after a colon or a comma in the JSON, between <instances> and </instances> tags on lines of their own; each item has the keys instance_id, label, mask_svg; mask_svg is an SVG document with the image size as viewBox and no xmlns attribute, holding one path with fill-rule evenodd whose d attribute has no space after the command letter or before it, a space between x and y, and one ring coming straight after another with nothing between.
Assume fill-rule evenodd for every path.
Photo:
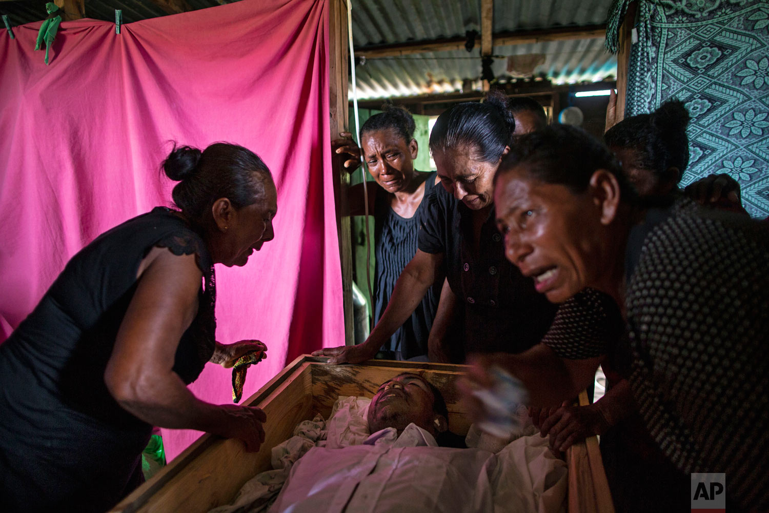
<instances>
[{"instance_id":1,"label":"open-mouthed woman in dotted black top, right foreground","mask_svg":"<svg viewBox=\"0 0 769 513\"><path fill-rule=\"evenodd\" d=\"M568 126L519 139L500 166L494 198L508 259L550 301L594 288L621 307L628 338L598 352L611 354L628 379L644 427L678 472L684 502L688 473L725 472L727 500L765 511L765 225L685 201L642 208L614 155ZM551 347L574 358L591 349ZM491 365L521 375L504 355L476 363L478 385L491 382ZM665 500L648 491L645 498Z\"/></svg>"}]
</instances>

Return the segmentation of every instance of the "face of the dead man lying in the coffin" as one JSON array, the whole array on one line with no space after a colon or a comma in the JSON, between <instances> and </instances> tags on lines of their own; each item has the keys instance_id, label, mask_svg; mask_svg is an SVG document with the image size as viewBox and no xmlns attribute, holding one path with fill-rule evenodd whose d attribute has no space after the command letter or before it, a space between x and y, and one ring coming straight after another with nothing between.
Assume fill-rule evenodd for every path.
<instances>
[{"instance_id":1,"label":"face of the dead man lying in the coffin","mask_svg":"<svg viewBox=\"0 0 769 513\"><path fill-rule=\"evenodd\" d=\"M435 396L424 378L415 374L401 374L379 386L368 407L368 428L371 433L384 428L403 431L413 422L435 434L433 411Z\"/></svg>"}]
</instances>

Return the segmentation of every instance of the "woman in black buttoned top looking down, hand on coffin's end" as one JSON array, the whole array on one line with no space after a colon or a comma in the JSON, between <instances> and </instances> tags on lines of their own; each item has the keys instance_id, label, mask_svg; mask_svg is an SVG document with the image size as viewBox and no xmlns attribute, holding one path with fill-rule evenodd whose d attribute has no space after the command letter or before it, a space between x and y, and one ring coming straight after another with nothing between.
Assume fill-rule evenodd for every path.
<instances>
[{"instance_id":1,"label":"woman in black buttoned top looking down, hand on coffin's end","mask_svg":"<svg viewBox=\"0 0 769 513\"><path fill-rule=\"evenodd\" d=\"M430 148L442 187L424 199L418 251L398 277L368 340L318 354L332 355L335 362L371 358L443 269L457 301L455 311L464 318L465 352L520 352L541 340L556 308L505 260L494 226L492 181L510 151L513 132L514 118L501 92L490 93L484 103L455 105L438 117Z\"/></svg>"}]
</instances>

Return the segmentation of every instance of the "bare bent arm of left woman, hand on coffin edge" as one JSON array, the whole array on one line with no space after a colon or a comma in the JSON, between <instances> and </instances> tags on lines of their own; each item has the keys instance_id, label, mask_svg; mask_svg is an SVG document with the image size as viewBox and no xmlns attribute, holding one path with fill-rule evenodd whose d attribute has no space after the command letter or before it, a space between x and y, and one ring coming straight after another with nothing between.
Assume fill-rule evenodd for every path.
<instances>
[{"instance_id":1,"label":"bare bent arm of left woman, hand on coffin edge","mask_svg":"<svg viewBox=\"0 0 769 513\"><path fill-rule=\"evenodd\" d=\"M181 335L197 314L202 273L195 255L155 248L118 330L105 383L118 404L151 425L264 441L259 408L212 405L195 398L172 370Z\"/></svg>"}]
</instances>

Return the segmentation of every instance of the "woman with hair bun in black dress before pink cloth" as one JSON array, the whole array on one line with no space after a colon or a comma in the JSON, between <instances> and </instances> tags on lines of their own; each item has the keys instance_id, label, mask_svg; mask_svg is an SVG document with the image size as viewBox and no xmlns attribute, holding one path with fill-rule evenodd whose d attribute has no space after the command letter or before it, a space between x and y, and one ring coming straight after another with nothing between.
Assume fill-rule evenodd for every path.
<instances>
[{"instance_id":1,"label":"woman with hair bun in black dress before pink cloth","mask_svg":"<svg viewBox=\"0 0 769 513\"><path fill-rule=\"evenodd\" d=\"M143 481L152 426L265 439L259 408L212 405L186 385L260 341L215 339L214 264L242 266L274 237L275 183L257 155L215 143L163 162L178 210L100 235L0 345L3 511L105 511Z\"/></svg>"}]
</instances>

